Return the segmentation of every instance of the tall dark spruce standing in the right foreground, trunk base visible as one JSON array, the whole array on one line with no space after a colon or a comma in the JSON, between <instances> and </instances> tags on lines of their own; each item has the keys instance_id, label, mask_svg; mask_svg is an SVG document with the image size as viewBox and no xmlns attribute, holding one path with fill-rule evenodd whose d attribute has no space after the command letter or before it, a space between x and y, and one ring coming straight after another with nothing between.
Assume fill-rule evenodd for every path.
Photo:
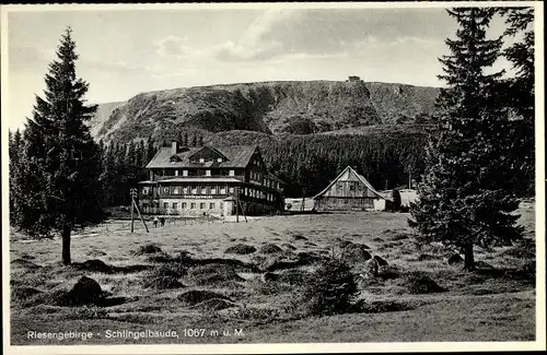
<instances>
[{"instance_id":1,"label":"tall dark spruce standing in the right foreground, trunk base visible","mask_svg":"<svg viewBox=\"0 0 547 355\"><path fill-rule=\"evenodd\" d=\"M501 38L486 39L496 13L487 8L449 10L459 28L446 39L451 55L443 57L447 83L438 105L443 113L438 133L427 149L427 170L419 186L420 200L412 205L410 225L420 241L441 241L465 253L465 268L473 270L474 246L519 239L519 216L512 187L504 179L510 152L503 142L503 113L497 105L502 72L487 74L500 56Z\"/></svg>"}]
</instances>

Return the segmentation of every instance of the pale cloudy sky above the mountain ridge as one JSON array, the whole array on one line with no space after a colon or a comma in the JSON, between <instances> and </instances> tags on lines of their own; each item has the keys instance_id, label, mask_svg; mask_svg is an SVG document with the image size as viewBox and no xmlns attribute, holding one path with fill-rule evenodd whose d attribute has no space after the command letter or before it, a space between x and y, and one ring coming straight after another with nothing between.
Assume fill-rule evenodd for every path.
<instances>
[{"instance_id":1,"label":"pale cloudy sky above the mountain ridge","mask_svg":"<svg viewBox=\"0 0 547 355\"><path fill-rule=\"evenodd\" d=\"M284 80L442 86L456 24L444 9L178 9L8 12L10 129L22 128L65 28L90 103L155 90ZM38 8L39 9L39 8ZM501 33L501 21L492 23ZM499 63L505 68L507 63Z\"/></svg>"}]
</instances>

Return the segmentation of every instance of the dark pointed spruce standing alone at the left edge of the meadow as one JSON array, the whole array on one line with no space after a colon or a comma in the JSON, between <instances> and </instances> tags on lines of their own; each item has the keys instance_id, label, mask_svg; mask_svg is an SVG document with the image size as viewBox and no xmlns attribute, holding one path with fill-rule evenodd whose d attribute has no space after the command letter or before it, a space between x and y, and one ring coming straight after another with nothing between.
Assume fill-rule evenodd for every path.
<instances>
[{"instance_id":1,"label":"dark pointed spruce standing alone at the left edge of the meadow","mask_svg":"<svg viewBox=\"0 0 547 355\"><path fill-rule=\"evenodd\" d=\"M65 264L71 263L72 230L103 217L98 147L85 125L96 105L85 105L89 85L77 78L71 33L68 27L46 74L45 97L36 96L26 122L23 177L14 191L19 227L35 237L61 232Z\"/></svg>"}]
</instances>

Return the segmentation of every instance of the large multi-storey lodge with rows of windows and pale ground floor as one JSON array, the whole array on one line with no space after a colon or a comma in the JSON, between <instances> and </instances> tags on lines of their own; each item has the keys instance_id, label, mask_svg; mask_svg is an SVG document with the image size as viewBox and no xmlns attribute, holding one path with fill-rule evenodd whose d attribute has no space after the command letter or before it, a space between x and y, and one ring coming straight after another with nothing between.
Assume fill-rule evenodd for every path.
<instances>
[{"instance_id":1,"label":"large multi-storey lodge with rows of windows and pale ground floor","mask_svg":"<svg viewBox=\"0 0 547 355\"><path fill-rule=\"evenodd\" d=\"M147 169L150 179L139 182L139 206L146 214L228 216L236 208L244 214L283 209L283 181L268 171L255 145L187 147L173 142L158 151Z\"/></svg>"}]
</instances>

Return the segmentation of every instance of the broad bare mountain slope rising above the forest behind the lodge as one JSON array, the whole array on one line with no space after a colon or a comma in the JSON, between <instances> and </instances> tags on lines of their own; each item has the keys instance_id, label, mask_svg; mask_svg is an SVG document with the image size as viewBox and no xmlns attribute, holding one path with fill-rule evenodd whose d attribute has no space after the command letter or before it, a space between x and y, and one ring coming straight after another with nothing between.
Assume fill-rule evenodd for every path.
<instances>
[{"instance_id":1,"label":"broad bare mountain slope rising above the forest behind the lodge","mask_svg":"<svg viewBox=\"0 0 547 355\"><path fill-rule=\"evenodd\" d=\"M171 139L182 130L198 130L206 138L233 130L265 135L349 133L369 126L424 122L434 114L438 92L362 81L184 87L100 105L91 127L96 139L119 142L149 135Z\"/></svg>"}]
</instances>

